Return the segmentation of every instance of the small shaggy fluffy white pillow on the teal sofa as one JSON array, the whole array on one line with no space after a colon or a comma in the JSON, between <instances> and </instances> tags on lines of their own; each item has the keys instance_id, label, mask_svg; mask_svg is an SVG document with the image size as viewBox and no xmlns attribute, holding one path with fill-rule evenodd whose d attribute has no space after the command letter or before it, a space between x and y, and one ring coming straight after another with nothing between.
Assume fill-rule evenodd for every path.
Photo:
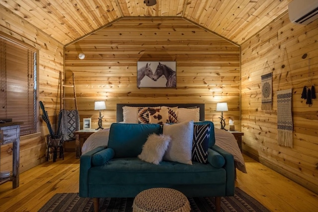
<instances>
[{"instance_id":1,"label":"small shaggy fluffy white pillow on the teal sofa","mask_svg":"<svg viewBox=\"0 0 318 212\"><path fill-rule=\"evenodd\" d=\"M171 138L167 135L149 135L141 154L138 155L139 159L158 165L170 141Z\"/></svg>"}]
</instances>

